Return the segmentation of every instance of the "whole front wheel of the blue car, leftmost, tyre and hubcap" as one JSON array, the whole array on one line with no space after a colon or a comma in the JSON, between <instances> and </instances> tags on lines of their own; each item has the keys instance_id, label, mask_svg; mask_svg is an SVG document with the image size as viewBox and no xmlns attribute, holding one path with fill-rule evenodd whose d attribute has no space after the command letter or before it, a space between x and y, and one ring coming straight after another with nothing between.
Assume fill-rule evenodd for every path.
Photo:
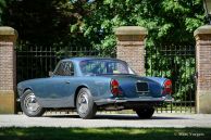
<instances>
[{"instance_id":1,"label":"whole front wheel of the blue car, leftmost, tyre and hubcap","mask_svg":"<svg viewBox=\"0 0 211 140\"><path fill-rule=\"evenodd\" d=\"M26 90L21 98L22 111L29 117L41 116L45 113L32 90Z\"/></svg>"}]
</instances>

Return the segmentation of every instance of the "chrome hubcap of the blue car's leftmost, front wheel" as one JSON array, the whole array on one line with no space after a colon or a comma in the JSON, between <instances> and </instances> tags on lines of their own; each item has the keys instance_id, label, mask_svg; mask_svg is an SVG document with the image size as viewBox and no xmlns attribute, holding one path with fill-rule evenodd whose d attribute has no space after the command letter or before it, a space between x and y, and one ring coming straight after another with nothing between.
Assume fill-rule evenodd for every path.
<instances>
[{"instance_id":1,"label":"chrome hubcap of the blue car's leftmost, front wheel","mask_svg":"<svg viewBox=\"0 0 211 140\"><path fill-rule=\"evenodd\" d=\"M26 96L26 98L24 100L24 105L25 105L26 110L28 110L29 112L36 112L36 111L40 110L40 106L39 106L34 93L29 93L28 96Z\"/></svg>"}]
</instances>

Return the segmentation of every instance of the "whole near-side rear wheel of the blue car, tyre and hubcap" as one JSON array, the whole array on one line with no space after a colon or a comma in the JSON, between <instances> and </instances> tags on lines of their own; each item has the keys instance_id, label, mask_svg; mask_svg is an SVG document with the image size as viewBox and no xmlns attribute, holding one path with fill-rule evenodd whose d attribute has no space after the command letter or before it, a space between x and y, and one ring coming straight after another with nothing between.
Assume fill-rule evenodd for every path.
<instances>
[{"instance_id":1,"label":"whole near-side rear wheel of the blue car, tyre and hubcap","mask_svg":"<svg viewBox=\"0 0 211 140\"><path fill-rule=\"evenodd\" d=\"M76 109L79 117L90 119L96 115L97 106L92 96L87 88L82 88L77 94Z\"/></svg>"}]
</instances>

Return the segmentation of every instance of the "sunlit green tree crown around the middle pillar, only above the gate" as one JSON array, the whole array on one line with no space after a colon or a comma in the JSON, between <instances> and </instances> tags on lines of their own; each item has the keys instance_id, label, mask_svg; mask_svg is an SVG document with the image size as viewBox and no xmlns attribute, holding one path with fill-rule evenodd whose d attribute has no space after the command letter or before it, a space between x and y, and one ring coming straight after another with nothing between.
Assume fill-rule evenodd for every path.
<instances>
[{"instance_id":1,"label":"sunlit green tree crown around the middle pillar, only above the gate","mask_svg":"<svg viewBox=\"0 0 211 140\"><path fill-rule=\"evenodd\" d=\"M83 33L103 49L115 46L113 29L119 26L148 28L149 47L166 40L194 41L193 31L204 22L200 0L95 0L86 4L91 13L83 18Z\"/></svg>"}]
</instances>

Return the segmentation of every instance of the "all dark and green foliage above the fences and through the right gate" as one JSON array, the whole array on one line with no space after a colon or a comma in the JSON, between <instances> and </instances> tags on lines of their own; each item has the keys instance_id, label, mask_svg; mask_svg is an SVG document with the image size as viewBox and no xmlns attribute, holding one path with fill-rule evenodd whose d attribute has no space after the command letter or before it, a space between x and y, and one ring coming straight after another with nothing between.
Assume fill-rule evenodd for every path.
<instances>
[{"instance_id":1,"label":"all dark and green foliage above the fences and through the right gate","mask_svg":"<svg viewBox=\"0 0 211 140\"><path fill-rule=\"evenodd\" d=\"M185 100L194 87L194 55L170 58L162 47L195 44L193 31L204 24L202 0L0 0L0 15L2 5L8 8L1 23L17 29L21 41L63 48L58 55L69 54L67 47L86 47L115 56L114 28L144 26L149 30L147 74L174 80L177 99Z\"/></svg>"}]
</instances>

